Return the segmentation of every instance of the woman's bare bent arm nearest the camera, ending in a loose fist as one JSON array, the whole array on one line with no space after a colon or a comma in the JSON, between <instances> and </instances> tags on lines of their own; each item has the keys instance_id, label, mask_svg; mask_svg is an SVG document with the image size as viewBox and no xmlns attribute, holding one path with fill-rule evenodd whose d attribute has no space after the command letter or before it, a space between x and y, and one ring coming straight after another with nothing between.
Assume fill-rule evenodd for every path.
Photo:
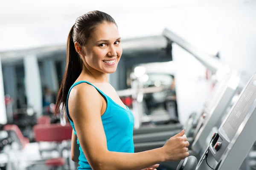
<instances>
[{"instance_id":1,"label":"woman's bare bent arm nearest the camera, ending in a loose fist","mask_svg":"<svg viewBox=\"0 0 256 170\"><path fill-rule=\"evenodd\" d=\"M91 85L74 87L69 97L69 112L79 143L93 170L141 170L163 161L187 157L189 144L184 132L177 134L161 148L140 153L111 152L101 120L103 97Z\"/></svg>"}]
</instances>

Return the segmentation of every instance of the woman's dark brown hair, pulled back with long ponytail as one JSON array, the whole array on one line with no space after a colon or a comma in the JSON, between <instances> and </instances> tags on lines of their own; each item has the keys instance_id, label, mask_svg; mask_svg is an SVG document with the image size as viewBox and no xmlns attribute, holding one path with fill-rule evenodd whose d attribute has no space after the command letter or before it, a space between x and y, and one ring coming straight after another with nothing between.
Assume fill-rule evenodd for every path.
<instances>
[{"instance_id":1,"label":"woman's dark brown hair, pulled back with long ponytail","mask_svg":"<svg viewBox=\"0 0 256 170\"><path fill-rule=\"evenodd\" d=\"M109 14L102 11L90 11L78 17L76 23L70 29L70 33L67 37L67 65L60 90L58 91L54 112L55 116L59 113L61 103L61 113L65 113L68 92L81 74L83 68L82 60L76 52L75 42L78 42L81 46L86 45L87 40L90 38L95 28L104 22L116 24L115 20ZM64 115L61 116L64 117Z\"/></svg>"}]
</instances>

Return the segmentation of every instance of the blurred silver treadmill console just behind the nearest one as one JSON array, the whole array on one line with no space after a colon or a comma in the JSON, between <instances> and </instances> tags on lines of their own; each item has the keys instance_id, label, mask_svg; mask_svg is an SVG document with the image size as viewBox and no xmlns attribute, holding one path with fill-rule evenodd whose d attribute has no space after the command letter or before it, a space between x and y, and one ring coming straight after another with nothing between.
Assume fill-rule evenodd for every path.
<instances>
[{"instance_id":1,"label":"blurred silver treadmill console just behind the nearest one","mask_svg":"<svg viewBox=\"0 0 256 170\"><path fill-rule=\"evenodd\" d=\"M225 113L230 106L231 100L240 89L239 87L241 87L242 83L239 84L240 81L241 79L236 74L229 73L218 83L215 93L212 94L212 100L207 104L204 114L198 121L198 126L194 132L195 140L189 142L192 148L192 150L189 150L190 155L196 156L198 159L202 156L202 150L204 151L209 144L209 140L207 140L209 133L221 121L221 118L226 115ZM177 162L163 162L162 166L175 169Z\"/></svg>"}]
</instances>

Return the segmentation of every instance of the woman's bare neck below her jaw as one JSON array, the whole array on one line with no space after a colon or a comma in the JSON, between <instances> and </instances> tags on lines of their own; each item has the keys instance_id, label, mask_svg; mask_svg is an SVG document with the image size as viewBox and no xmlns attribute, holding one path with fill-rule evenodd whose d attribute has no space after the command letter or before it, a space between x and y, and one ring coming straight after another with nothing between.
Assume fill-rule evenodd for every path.
<instances>
[{"instance_id":1,"label":"woman's bare neck below her jaw","mask_svg":"<svg viewBox=\"0 0 256 170\"><path fill-rule=\"evenodd\" d=\"M87 64L83 64L81 76L89 79L91 82L108 83L108 74L97 71Z\"/></svg>"}]
</instances>

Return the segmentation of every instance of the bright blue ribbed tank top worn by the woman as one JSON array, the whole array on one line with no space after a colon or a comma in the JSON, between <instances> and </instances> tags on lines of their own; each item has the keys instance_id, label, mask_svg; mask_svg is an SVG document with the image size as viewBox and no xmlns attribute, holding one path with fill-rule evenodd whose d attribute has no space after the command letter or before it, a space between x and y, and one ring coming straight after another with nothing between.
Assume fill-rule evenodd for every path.
<instances>
[{"instance_id":1,"label":"bright blue ribbed tank top worn by the woman","mask_svg":"<svg viewBox=\"0 0 256 170\"><path fill-rule=\"evenodd\" d=\"M76 129L74 123L72 122L69 111L68 111L68 97L71 89L79 85L80 83L87 83L92 85L90 82L79 81L74 83L67 95L67 107L66 113L67 117L70 120L70 124L74 129L74 134L76 134ZM92 85L96 88L94 85ZM130 109L125 106L118 105L114 102L109 96L104 94L101 90L96 88L96 90L105 98L107 102L107 107L105 113L101 116L102 124L104 127L107 147L109 151L113 152L124 152L124 153L134 153L134 142L133 142L133 127L134 127L134 117ZM86 113L85 113L86 114ZM77 139L79 144L79 139ZM90 164L88 163L84 152L79 144L80 156L79 156L79 167L78 170L91 170Z\"/></svg>"}]
</instances>

